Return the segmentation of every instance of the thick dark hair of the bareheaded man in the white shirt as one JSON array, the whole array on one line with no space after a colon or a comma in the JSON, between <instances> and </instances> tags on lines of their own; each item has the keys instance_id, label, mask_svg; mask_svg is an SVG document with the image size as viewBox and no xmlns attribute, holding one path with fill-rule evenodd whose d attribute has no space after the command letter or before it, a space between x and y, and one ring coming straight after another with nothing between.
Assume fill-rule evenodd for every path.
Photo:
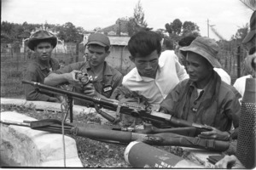
<instances>
[{"instance_id":1,"label":"thick dark hair of the bareheaded man in the white shirt","mask_svg":"<svg viewBox=\"0 0 256 170\"><path fill-rule=\"evenodd\" d=\"M147 56L154 50L161 53L161 37L154 31L138 31L128 42L128 50L131 56Z\"/></svg>"}]
</instances>

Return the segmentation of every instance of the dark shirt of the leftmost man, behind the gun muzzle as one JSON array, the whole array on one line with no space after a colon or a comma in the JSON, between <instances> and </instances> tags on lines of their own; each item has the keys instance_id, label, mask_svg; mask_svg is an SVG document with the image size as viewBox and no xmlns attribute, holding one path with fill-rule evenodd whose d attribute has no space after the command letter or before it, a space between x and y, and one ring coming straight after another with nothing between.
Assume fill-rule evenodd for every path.
<instances>
[{"instance_id":1,"label":"dark shirt of the leftmost man, behind the gun muzzle","mask_svg":"<svg viewBox=\"0 0 256 170\"><path fill-rule=\"evenodd\" d=\"M42 65L38 59L32 60L26 68L25 80L44 83L44 78L48 76L50 69L55 71L60 68L59 62L56 59L50 58L49 65L51 68L48 68L46 65ZM48 101L49 97L54 97L53 94L42 91L39 92L37 88L30 84L25 84L24 88L27 100Z\"/></svg>"}]
</instances>

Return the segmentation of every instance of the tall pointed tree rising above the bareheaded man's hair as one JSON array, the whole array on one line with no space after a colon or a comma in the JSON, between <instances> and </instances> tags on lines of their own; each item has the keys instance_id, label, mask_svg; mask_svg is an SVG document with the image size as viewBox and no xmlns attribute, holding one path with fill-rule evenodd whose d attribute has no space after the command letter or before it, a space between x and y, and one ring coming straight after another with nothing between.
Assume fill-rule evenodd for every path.
<instances>
[{"instance_id":1,"label":"tall pointed tree rising above the bareheaded man's hair","mask_svg":"<svg viewBox=\"0 0 256 170\"><path fill-rule=\"evenodd\" d=\"M137 31L141 31L143 29L145 30L152 29L147 27L148 24L146 20L144 20L144 17L145 15L143 12L143 6L139 0L136 7L134 8L133 17L130 17L127 23L127 30L128 30L129 36L132 36Z\"/></svg>"}]
</instances>

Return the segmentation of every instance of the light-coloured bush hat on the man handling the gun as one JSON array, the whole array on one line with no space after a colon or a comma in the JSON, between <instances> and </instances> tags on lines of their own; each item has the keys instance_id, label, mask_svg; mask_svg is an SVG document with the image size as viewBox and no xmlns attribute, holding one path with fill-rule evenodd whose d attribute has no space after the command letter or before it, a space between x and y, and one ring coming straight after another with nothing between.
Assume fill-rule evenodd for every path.
<instances>
[{"instance_id":1,"label":"light-coloured bush hat on the man handling the gun","mask_svg":"<svg viewBox=\"0 0 256 170\"><path fill-rule=\"evenodd\" d=\"M218 44L209 37L196 37L193 42L187 47L180 48L184 52L194 52L200 54L203 58L207 59L209 63L216 68L222 66L218 62Z\"/></svg>"}]
</instances>

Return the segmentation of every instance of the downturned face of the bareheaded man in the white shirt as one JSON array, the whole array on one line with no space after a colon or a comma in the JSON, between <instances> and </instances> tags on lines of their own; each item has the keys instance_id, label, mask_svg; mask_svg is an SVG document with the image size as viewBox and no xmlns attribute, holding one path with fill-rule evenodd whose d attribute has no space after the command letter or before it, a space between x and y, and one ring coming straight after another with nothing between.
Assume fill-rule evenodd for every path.
<instances>
[{"instance_id":1,"label":"downturned face of the bareheaded man in the white shirt","mask_svg":"<svg viewBox=\"0 0 256 170\"><path fill-rule=\"evenodd\" d=\"M131 61L136 65L137 71L142 77L155 78L156 71L158 68L158 59L160 54L157 54L157 51L154 50L148 56L131 56Z\"/></svg>"}]
</instances>

